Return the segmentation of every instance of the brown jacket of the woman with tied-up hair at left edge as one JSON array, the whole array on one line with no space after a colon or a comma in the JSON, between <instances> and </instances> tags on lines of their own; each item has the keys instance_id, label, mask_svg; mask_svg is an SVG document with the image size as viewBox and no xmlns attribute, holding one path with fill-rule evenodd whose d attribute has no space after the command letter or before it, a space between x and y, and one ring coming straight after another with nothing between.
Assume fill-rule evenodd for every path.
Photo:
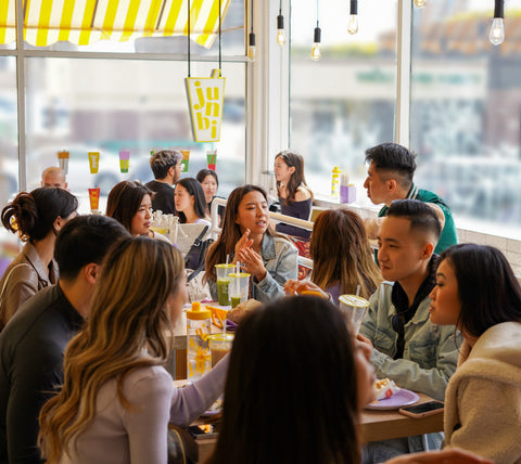
<instances>
[{"instance_id":1,"label":"brown jacket of the woman with tied-up hair at left edge","mask_svg":"<svg viewBox=\"0 0 521 464\"><path fill-rule=\"evenodd\" d=\"M27 299L38 291L55 284L58 278L56 261L52 259L49 268L46 268L36 248L27 242L0 281L0 291L3 288L0 297L0 330Z\"/></svg>"}]
</instances>

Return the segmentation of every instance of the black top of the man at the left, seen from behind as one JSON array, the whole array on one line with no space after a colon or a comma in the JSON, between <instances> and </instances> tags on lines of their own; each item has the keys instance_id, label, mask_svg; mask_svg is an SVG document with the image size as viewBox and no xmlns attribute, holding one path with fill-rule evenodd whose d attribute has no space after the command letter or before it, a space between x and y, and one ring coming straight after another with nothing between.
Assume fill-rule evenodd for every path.
<instances>
[{"instance_id":1,"label":"black top of the man at the left, seen from behind","mask_svg":"<svg viewBox=\"0 0 521 464\"><path fill-rule=\"evenodd\" d=\"M63 383L65 346L82 322L60 285L53 285L29 298L0 334L1 464L42 462L38 414Z\"/></svg>"}]
</instances>

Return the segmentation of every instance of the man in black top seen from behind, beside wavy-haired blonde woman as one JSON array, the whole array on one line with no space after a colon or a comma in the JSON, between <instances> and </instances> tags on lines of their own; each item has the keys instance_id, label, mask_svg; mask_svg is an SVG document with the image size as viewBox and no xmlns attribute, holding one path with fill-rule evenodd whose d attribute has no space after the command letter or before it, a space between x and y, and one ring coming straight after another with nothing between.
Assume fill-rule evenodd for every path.
<instances>
[{"instance_id":1,"label":"man in black top seen from behind, beside wavy-haired blonde woman","mask_svg":"<svg viewBox=\"0 0 521 464\"><path fill-rule=\"evenodd\" d=\"M128 236L115 219L79 216L56 239L56 285L28 299L0 334L0 463L40 463L38 415L63 383L65 346L87 317L109 248Z\"/></svg>"}]
</instances>

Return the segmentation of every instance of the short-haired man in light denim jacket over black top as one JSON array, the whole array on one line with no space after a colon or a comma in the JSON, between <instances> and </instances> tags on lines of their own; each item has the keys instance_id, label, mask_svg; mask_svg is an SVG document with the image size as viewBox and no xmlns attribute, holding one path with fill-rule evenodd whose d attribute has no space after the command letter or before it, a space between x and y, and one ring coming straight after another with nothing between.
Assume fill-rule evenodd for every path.
<instances>
[{"instance_id":1,"label":"short-haired man in light denim jacket over black top","mask_svg":"<svg viewBox=\"0 0 521 464\"><path fill-rule=\"evenodd\" d=\"M429 294L435 285L437 258L433 250L440 233L436 214L427 204L392 203L378 234L378 261L385 282L369 300L358 338L373 347L371 362L378 378L389 377L403 388L443 401L460 341L455 340L454 325L430 321ZM440 448L440 434L428 437L431 448ZM371 442L364 450L364 462L382 462L422 448L420 436Z\"/></svg>"}]
</instances>

